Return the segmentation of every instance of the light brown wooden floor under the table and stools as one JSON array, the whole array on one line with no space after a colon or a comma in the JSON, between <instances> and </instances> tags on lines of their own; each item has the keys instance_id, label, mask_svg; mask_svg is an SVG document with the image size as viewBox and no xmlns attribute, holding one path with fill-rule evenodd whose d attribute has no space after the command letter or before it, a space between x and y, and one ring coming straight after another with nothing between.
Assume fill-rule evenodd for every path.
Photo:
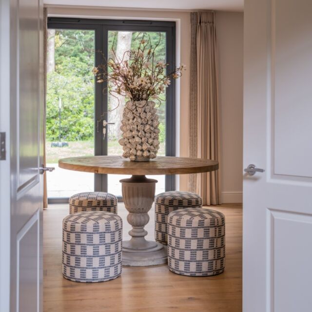
<instances>
[{"instance_id":1,"label":"light brown wooden floor under the table and stools","mask_svg":"<svg viewBox=\"0 0 312 312\"><path fill-rule=\"evenodd\" d=\"M67 205L51 205L44 218L44 312L241 312L242 311L242 208L239 204L216 209L226 218L226 269L212 277L188 277L171 273L167 265L123 267L115 280L76 283L61 273L61 221ZM130 230L126 210L124 237ZM147 227L153 238L153 210Z\"/></svg>"}]
</instances>

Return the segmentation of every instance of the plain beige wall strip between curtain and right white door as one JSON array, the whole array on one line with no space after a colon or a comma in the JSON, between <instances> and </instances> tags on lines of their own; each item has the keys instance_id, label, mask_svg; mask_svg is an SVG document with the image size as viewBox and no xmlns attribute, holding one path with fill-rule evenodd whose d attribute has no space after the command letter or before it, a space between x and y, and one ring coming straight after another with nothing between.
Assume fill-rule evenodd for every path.
<instances>
[{"instance_id":1,"label":"plain beige wall strip between curtain and right white door","mask_svg":"<svg viewBox=\"0 0 312 312\"><path fill-rule=\"evenodd\" d=\"M242 202L243 13L217 12L222 201Z\"/></svg>"}]
</instances>

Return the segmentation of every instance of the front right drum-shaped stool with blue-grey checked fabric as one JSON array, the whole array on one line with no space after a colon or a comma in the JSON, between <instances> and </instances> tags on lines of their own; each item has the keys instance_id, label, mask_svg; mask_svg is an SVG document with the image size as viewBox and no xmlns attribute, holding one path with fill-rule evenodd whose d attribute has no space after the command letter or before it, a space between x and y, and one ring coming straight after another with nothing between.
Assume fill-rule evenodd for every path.
<instances>
[{"instance_id":1,"label":"front right drum-shaped stool with blue-grey checked fabric","mask_svg":"<svg viewBox=\"0 0 312 312\"><path fill-rule=\"evenodd\" d=\"M179 209L168 215L169 270L190 276L222 273L225 218L211 209Z\"/></svg>"}]
</instances>

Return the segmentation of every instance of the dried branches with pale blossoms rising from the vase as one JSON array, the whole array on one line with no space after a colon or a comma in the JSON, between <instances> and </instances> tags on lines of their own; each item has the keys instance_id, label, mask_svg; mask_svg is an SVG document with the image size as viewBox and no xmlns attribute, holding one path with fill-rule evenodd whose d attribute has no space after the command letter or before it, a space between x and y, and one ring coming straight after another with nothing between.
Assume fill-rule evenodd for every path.
<instances>
[{"instance_id":1,"label":"dried branches with pale blossoms rising from the vase","mask_svg":"<svg viewBox=\"0 0 312 312\"><path fill-rule=\"evenodd\" d=\"M142 39L137 50L126 51L122 59L118 59L112 49L115 59L109 58L104 64L93 68L97 82L107 81L108 93L125 96L131 101L159 99L165 94L165 88L170 85L171 79L182 76L185 65L182 64L166 74L169 64L155 60L160 37L155 47L150 42ZM124 60L125 55L128 60Z\"/></svg>"}]
</instances>

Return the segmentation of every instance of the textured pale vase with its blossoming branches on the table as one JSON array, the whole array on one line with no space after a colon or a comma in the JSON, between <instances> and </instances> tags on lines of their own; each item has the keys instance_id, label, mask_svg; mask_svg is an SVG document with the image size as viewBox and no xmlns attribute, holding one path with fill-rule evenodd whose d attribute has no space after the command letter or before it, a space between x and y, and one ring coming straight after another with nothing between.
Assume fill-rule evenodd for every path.
<instances>
[{"instance_id":1,"label":"textured pale vase with its blossoming branches on the table","mask_svg":"<svg viewBox=\"0 0 312 312\"><path fill-rule=\"evenodd\" d=\"M93 69L98 83L107 81L104 91L115 98L114 94L117 94L129 99L121 121L122 138L118 142L123 147L122 156L132 161L147 161L156 157L160 131L154 101L161 103L171 79L181 77L185 70L182 64L167 74L169 64L155 59L160 36L155 47L150 42L142 39L137 50L126 51L122 59L118 59L112 49L115 59L110 58Z\"/></svg>"}]
</instances>

